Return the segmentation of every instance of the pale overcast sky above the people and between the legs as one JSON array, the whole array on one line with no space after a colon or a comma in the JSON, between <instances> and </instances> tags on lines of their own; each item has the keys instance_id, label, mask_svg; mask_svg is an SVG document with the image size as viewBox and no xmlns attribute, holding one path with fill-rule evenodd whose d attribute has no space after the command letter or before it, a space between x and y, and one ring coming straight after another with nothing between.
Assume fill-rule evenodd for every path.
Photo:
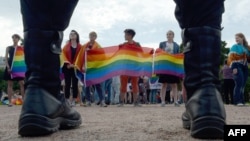
<instances>
[{"instance_id":1,"label":"pale overcast sky above the people and between the legs","mask_svg":"<svg viewBox=\"0 0 250 141\"><path fill-rule=\"evenodd\" d=\"M223 14L222 40L230 47L235 33L242 32L250 42L250 0L226 0ZM181 30L174 17L173 0L79 0L64 32L64 41L70 30L80 34L81 43L88 41L88 33L96 31L97 41L103 47L124 42L123 31L133 28L135 40L142 46L157 48L166 40L166 31L175 32L175 41L181 43ZM19 0L0 0L0 56L12 45L11 35L23 35Z\"/></svg>"}]
</instances>

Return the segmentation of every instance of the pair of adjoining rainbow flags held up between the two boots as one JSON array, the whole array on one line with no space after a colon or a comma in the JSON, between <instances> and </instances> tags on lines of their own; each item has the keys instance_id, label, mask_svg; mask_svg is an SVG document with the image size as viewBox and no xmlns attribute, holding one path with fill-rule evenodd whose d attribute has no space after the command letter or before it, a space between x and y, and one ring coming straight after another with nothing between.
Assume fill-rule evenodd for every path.
<instances>
[{"instance_id":1,"label":"pair of adjoining rainbow flags held up between the two boots","mask_svg":"<svg viewBox=\"0 0 250 141\"><path fill-rule=\"evenodd\" d=\"M184 76L184 55L168 54L161 49L154 52L153 48L148 47L111 46L88 50L84 58L81 59L81 63L85 66L85 72L76 68L76 76L86 86L98 84L119 75Z\"/></svg>"}]
</instances>

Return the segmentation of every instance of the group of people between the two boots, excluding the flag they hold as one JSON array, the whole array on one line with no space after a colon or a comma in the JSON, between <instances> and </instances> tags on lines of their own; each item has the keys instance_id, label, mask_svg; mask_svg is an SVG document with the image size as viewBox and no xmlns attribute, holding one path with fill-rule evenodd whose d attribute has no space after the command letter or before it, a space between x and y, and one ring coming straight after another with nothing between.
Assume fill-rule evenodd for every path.
<instances>
[{"instance_id":1,"label":"group of people between the two boots, excluding the flag they hold","mask_svg":"<svg viewBox=\"0 0 250 141\"><path fill-rule=\"evenodd\" d=\"M122 46L132 46L135 48L140 48L140 44L133 40L136 32L133 29L124 30L125 43L120 44ZM82 72L85 72L85 65L75 66L79 64L77 61L84 59L85 51L101 48L97 39L96 32L89 33L89 41L85 43L82 47L79 47L79 34L72 30L70 39L67 44L63 47L63 73L64 73L64 89L66 99L71 103L72 106L75 106L76 97L79 95L78 80L74 74L74 68L81 68ZM169 30L166 34L167 41L163 41L159 44L159 48L165 52L171 54L180 53L179 45L174 42L174 32ZM79 59L80 58L80 59ZM71 73L68 70L71 69ZM121 75L114 78L110 78L102 83L95 84L92 86L82 86L80 89L83 94L80 103L84 100L84 106L91 106L93 102L97 103L101 107L107 107L109 104L118 104L119 107L122 107L124 103L133 103L134 106L140 107L142 103L159 103L164 107L166 103L166 93L170 92L170 99L168 103L174 103L175 106L179 106L180 96L178 96L177 84L180 83L181 78L174 75L167 74L156 74L158 77L157 83L161 84L161 88L152 88L150 89L150 77L146 76L127 76ZM81 83L81 82L79 82ZM70 88L72 88L72 99L69 99ZM182 88L180 88L182 89ZM98 95L95 96L95 94ZM160 99L158 99L160 97ZM181 96L182 97L182 96Z\"/></svg>"}]
</instances>

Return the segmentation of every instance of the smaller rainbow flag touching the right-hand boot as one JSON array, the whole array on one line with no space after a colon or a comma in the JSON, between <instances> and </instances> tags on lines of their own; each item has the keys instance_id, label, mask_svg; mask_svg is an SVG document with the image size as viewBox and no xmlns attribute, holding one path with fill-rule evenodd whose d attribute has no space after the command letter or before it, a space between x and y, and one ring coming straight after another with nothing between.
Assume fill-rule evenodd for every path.
<instances>
[{"instance_id":1,"label":"smaller rainbow flag touching the right-hand boot","mask_svg":"<svg viewBox=\"0 0 250 141\"><path fill-rule=\"evenodd\" d=\"M184 76L183 65L184 54L169 54L162 49L155 51L154 57L154 73L170 74L178 77Z\"/></svg>"}]
</instances>

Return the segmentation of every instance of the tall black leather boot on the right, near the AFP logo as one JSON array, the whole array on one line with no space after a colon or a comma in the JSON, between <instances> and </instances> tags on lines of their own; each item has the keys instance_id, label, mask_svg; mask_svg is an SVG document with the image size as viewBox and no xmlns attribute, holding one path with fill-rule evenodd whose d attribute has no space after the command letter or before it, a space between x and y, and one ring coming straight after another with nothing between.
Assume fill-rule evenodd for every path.
<instances>
[{"instance_id":1,"label":"tall black leather boot on the right, near the AFP logo","mask_svg":"<svg viewBox=\"0 0 250 141\"><path fill-rule=\"evenodd\" d=\"M219 92L221 32L210 27L183 30L184 85L187 91L183 127L195 138L223 138L226 113Z\"/></svg>"}]
</instances>

